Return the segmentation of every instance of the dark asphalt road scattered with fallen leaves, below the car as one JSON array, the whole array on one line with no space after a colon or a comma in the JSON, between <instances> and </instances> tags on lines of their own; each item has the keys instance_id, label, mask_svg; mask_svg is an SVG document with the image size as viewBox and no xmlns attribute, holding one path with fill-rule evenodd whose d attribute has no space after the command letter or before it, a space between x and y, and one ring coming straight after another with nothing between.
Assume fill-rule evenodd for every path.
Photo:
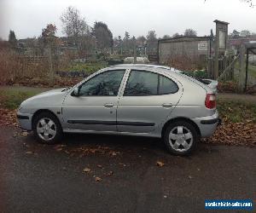
<instances>
[{"instance_id":1,"label":"dark asphalt road scattered with fallen leaves, below the car","mask_svg":"<svg viewBox=\"0 0 256 213\"><path fill-rule=\"evenodd\" d=\"M46 146L14 127L0 135L0 212L204 212L205 199L255 205L255 148L200 144L182 158L142 137L67 135L62 146Z\"/></svg>"}]
</instances>

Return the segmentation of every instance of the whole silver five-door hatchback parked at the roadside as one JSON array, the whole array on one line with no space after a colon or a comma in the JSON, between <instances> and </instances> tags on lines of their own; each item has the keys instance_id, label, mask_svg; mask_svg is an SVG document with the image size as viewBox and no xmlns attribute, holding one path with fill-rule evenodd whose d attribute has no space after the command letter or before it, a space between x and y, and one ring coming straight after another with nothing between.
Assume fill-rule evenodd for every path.
<instances>
[{"instance_id":1,"label":"whole silver five-door hatchback parked at the roadside","mask_svg":"<svg viewBox=\"0 0 256 213\"><path fill-rule=\"evenodd\" d=\"M55 143L63 132L163 138L171 153L191 153L218 125L214 90L167 66L108 66L73 88L23 101L20 127Z\"/></svg>"}]
</instances>

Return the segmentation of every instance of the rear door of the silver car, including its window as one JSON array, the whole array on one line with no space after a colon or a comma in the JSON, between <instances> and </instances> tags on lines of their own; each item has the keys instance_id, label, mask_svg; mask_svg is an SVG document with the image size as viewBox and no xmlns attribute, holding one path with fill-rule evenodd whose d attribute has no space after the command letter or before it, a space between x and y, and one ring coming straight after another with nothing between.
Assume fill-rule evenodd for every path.
<instances>
[{"instance_id":1,"label":"rear door of the silver car, including its window","mask_svg":"<svg viewBox=\"0 0 256 213\"><path fill-rule=\"evenodd\" d=\"M153 131L172 112L182 95L177 83L157 72L131 70L119 99L120 132Z\"/></svg>"}]
</instances>

